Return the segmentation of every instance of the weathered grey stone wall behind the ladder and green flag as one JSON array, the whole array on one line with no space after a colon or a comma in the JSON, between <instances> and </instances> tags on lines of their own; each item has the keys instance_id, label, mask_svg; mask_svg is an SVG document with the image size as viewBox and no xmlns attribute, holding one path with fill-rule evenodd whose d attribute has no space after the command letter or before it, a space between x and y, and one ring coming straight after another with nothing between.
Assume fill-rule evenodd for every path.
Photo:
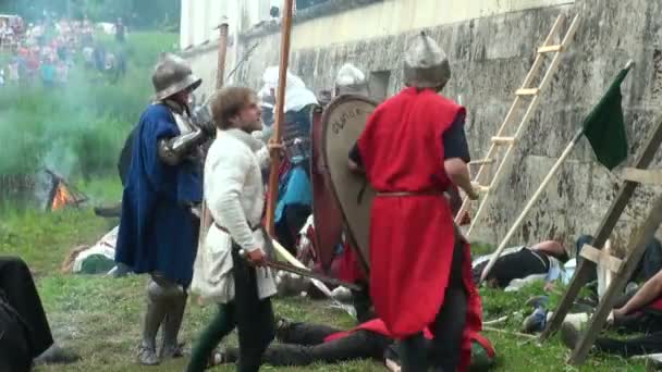
<instances>
[{"instance_id":1,"label":"weathered grey stone wall behind the ladder and green flag","mask_svg":"<svg viewBox=\"0 0 662 372\"><path fill-rule=\"evenodd\" d=\"M487 152L489 138L505 117L513 92L536 57L536 48L560 13L566 13L568 18L581 15L575 41L564 53L508 174L498 187L473 239L498 243L505 235L580 127L583 117L628 59L636 62L623 85L632 154L628 163L660 117L660 1L577 0L574 4L526 9L428 27L452 63L453 78L444 95L468 109L466 131L474 159ZM293 48L291 70L317 92L332 87L338 69L352 61L367 72L390 72L389 92L393 94L402 87L406 41L416 33L413 29L381 38ZM279 40L278 33L253 33L241 38L240 49L255 41L260 44L240 70L237 79L258 87L263 69L278 63ZM617 171L609 173L594 162L588 142L583 139L512 243L561 238L571 244L578 234L594 233L617 193L618 181ZM637 193L635 202L618 224L616 247L623 247L633 228L647 215L654 191L647 187Z\"/></svg>"}]
</instances>

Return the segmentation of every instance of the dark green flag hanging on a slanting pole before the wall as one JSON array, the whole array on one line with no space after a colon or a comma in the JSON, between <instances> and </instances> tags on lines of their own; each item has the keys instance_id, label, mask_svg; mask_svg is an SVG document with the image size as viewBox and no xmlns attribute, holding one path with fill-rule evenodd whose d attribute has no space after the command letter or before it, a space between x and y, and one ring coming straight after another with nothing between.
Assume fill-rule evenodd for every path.
<instances>
[{"instance_id":1,"label":"dark green flag hanging on a slanting pole before the wall","mask_svg":"<svg viewBox=\"0 0 662 372\"><path fill-rule=\"evenodd\" d=\"M584 135L598 161L610 171L627 158L621 84L628 72L629 69L624 69L618 73L604 97L584 120Z\"/></svg>"}]
</instances>

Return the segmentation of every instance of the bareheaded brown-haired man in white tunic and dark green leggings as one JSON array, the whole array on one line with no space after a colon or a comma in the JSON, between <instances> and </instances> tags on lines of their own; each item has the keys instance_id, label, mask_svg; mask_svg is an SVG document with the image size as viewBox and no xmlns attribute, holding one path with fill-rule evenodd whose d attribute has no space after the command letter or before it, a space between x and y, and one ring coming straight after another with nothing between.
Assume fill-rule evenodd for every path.
<instances>
[{"instance_id":1,"label":"bareheaded brown-haired man in white tunic and dark green leggings","mask_svg":"<svg viewBox=\"0 0 662 372\"><path fill-rule=\"evenodd\" d=\"M261 168L269 150L250 135L261 129L260 107L248 88L230 87L211 100L219 131L205 162L205 200L212 224L194 268L192 290L219 313L194 347L187 371L203 371L213 348L236 326L240 335L237 371L258 371L261 355L273 339L275 294L265 266L265 206ZM275 146L277 147L277 146Z\"/></svg>"}]
</instances>

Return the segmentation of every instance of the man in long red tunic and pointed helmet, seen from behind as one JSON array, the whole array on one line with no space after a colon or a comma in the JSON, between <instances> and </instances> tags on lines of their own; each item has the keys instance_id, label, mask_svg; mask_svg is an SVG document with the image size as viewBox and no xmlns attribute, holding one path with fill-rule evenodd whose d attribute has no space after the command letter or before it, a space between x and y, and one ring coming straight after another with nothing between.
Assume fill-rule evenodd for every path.
<instances>
[{"instance_id":1,"label":"man in long red tunic and pointed helmet, seen from behind","mask_svg":"<svg viewBox=\"0 0 662 372\"><path fill-rule=\"evenodd\" d=\"M350 166L377 190L370 219L370 295L391 335L403 340L403 371L428 371L424 330L433 334L434 371L467 365L465 328L480 319L468 244L444 191L474 190L466 111L438 95L451 75L445 53L418 35L405 55L407 88L368 119Z\"/></svg>"}]
</instances>

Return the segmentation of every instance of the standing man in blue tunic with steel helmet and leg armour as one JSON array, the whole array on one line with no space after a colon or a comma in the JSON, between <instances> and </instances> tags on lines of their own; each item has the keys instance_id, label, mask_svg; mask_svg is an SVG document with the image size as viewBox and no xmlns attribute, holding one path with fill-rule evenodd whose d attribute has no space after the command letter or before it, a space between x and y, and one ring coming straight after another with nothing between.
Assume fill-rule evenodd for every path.
<instances>
[{"instance_id":1,"label":"standing man in blue tunic with steel helmet and leg armour","mask_svg":"<svg viewBox=\"0 0 662 372\"><path fill-rule=\"evenodd\" d=\"M213 134L191 117L189 95L200 83L186 61L164 54L152 75L155 102L132 136L115 261L150 275L138 349L142 364L182 355L177 334L197 251L201 147ZM163 344L157 355L161 325Z\"/></svg>"}]
</instances>

